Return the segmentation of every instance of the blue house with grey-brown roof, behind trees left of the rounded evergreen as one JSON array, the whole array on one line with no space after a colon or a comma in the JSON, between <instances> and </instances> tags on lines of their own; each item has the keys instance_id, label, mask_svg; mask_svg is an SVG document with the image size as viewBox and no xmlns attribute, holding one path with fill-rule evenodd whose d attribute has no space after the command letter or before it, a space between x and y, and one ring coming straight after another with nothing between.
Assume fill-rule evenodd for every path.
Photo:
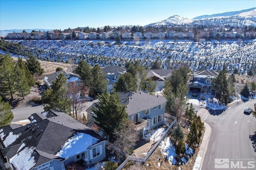
<instances>
[{"instance_id":1,"label":"blue house with grey-brown roof, behind trees left of the rounded evergreen","mask_svg":"<svg viewBox=\"0 0 256 170\"><path fill-rule=\"evenodd\" d=\"M126 72L125 68L119 66L110 66L102 68L103 74L106 75L107 89L112 92L115 83L118 81L118 77Z\"/></svg>"}]
</instances>

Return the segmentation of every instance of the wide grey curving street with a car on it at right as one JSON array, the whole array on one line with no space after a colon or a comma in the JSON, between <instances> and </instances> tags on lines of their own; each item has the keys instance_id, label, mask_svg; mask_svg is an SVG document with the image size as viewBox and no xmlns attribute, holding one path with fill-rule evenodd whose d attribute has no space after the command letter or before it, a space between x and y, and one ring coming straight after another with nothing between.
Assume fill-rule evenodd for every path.
<instances>
[{"instance_id":1,"label":"wide grey curving street with a car on it at right","mask_svg":"<svg viewBox=\"0 0 256 170\"><path fill-rule=\"evenodd\" d=\"M206 114L200 115L212 127L202 170L215 170L215 158L229 158L229 161L234 160L235 164L240 159L244 168L248 166L248 160L242 160L244 158L255 159L256 163L256 118L252 114L244 114L244 108L254 108L254 103L255 99L245 103L239 102L226 111L205 111ZM231 166L231 162L229 163ZM235 169L240 169L240 166Z\"/></svg>"}]
</instances>

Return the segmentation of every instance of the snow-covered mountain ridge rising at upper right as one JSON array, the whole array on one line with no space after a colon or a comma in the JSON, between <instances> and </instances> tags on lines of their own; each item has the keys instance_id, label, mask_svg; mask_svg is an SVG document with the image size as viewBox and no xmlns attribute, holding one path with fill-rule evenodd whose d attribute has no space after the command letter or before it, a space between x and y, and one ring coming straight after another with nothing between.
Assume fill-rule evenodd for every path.
<instances>
[{"instance_id":1,"label":"snow-covered mountain ridge rising at upper right","mask_svg":"<svg viewBox=\"0 0 256 170\"><path fill-rule=\"evenodd\" d=\"M240 10L234 12L225 12L222 14L212 14L198 16L193 19L182 18L180 16L172 16L166 20L156 23L150 23L145 26L173 26L173 25L230 25L230 26L256 26L256 8Z\"/></svg>"}]
</instances>

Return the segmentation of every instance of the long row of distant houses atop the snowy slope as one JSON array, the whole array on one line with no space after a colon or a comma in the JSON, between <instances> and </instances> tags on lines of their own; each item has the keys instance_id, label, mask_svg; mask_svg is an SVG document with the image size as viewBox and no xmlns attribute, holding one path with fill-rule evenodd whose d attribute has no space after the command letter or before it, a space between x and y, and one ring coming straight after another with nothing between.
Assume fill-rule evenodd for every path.
<instances>
[{"instance_id":1,"label":"long row of distant houses atop the snowy slope","mask_svg":"<svg viewBox=\"0 0 256 170\"><path fill-rule=\"evenodd\" d=\"M150 31L144 32L141 31L132 31L128 29L123 29L119 31L120 28L113 28L111 31L104 32L88 32L86 27L78 27L76 29L68 29L69 32L60 32L60 31L32 31L31 33L27 33L23 31L22 33L8 33L6 39L116 39L120 37L120 39L238 39L238 38L246 38L251 39L256 37L255 31L246 31L246 29L242 28L226 28L226 27L214 27L214 28L204 28L202 30L189 30L188 27L174 26L166 31L153 30L152 33ZM176 31L174 31L176 30ZM66 30L67 31L67 30ZM85 32L86 31L86 32ZM94 30L95 31L95 30Z\"/></svg>"}]
</instances>

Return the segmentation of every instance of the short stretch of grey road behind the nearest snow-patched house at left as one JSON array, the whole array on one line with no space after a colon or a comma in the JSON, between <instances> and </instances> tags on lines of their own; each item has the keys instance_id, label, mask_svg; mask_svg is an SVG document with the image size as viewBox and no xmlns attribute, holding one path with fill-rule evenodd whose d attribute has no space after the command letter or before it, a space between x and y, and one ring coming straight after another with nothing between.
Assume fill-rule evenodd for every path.
<instances>
[{"instance_id":1,"label":"short stretch of grey road behind the nearest snow-patched house at left","mask_svg":"<svg viewBox=\"0 0 256 170\"><path fill-rule=\"evenodd\" d=\"M14 114L14 119L12 122L26 120L33 113L41 113L44 111L44 106L28 106L28 107L18 107L12 109L12 113Z\"/></svg>"}]
</instances>

